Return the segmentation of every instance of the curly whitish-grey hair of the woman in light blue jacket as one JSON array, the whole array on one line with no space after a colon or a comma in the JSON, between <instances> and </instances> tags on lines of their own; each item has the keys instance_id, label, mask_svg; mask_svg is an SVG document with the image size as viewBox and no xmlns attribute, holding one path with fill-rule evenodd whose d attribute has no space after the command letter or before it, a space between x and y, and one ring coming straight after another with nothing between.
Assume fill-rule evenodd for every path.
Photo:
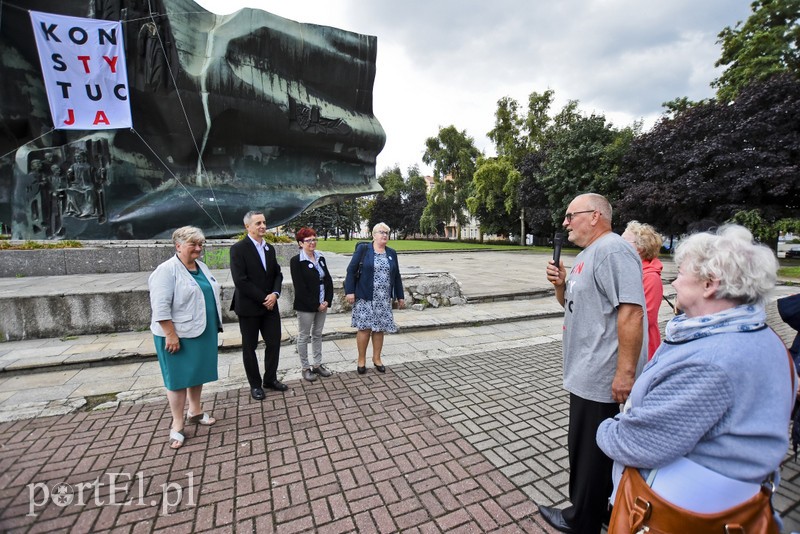
<instances>
[{"instance_id":1,"label":"curly whitish-grey hair of the woman in light blue jacket","mask_svg":"<svg viewBox=\"0 0 800 534\"><path fill-rule=\"evenodd\" d=\"M744 226L728 224L715 233L694 234L675 249L675 263L700 280L719 280L718 299L765 305L778 279L778 260L753 242Z\"/></svg>"}]
</instances>

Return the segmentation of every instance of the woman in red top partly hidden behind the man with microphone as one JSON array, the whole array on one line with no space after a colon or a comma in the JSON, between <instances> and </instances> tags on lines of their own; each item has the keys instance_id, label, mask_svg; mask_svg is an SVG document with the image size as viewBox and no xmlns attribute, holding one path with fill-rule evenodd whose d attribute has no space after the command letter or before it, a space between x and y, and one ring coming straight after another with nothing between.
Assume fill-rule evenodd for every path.
<instances>
[{"instance_id":1,"label":"woman in red top partly hidden behind the man with microphone","mask_svg":"<svg viewBox=\"0 0 800 534\"><path fill-rule=\"evenodd\" d=\"M622 239L633 245L642 258L642 283L647 304L647 359L650 360L661 344L661 332L658 329L658 309L664 297L664 284L661 282L664 265L658 259L661 235L649 224L631 221Z\"/></svg>"}]
</instances>

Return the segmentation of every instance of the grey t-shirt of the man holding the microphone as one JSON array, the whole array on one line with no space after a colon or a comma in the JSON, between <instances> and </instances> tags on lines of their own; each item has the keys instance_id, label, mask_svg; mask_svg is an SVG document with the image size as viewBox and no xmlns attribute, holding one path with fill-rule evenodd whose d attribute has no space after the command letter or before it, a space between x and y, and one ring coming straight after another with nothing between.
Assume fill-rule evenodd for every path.
<instances>
[{"instance_id":1,"label":"grey t-shirt of the man holding the microphone","mask_svg":"<svg viewBox=\"0 0 800 534\"><path fill-rule=\"evenodd\" d=\"M644 318L642 352L647 362L647 311L642 262L620 236L608 233L581 251L567 276L564 293L564 388L595 401L614 402L611 383L617 371L617 308L637 304Z\"/></svg>"}]
</instances>

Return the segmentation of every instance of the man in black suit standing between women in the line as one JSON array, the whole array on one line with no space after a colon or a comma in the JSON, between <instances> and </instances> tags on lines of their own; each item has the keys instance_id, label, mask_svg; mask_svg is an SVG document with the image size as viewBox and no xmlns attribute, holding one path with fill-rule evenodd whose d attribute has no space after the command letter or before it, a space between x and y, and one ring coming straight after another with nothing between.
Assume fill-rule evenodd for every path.
<instances>
[{"instance_id":1,"label":"man in black suit standing between women in the line","mask_svg":"<svg viewBox=\"0 0 800 534\"><path fill-rule=\"evenodd\" d=\"M278 359L281 350L281 315L278 298L281 295L283 274L275 257L275 248L264 241L267 222L260 211L249 211L244 216L247 236L231 247L231 275L236 290L231 309L239 316L242 332L242 357L250 395L264 399L262 388L286 391L286 384L278 380ZM258 369L256 347L258 333L264 339L264 380ZM262 385L263 384L263 385Z\"/></svg>"}]
</instances>

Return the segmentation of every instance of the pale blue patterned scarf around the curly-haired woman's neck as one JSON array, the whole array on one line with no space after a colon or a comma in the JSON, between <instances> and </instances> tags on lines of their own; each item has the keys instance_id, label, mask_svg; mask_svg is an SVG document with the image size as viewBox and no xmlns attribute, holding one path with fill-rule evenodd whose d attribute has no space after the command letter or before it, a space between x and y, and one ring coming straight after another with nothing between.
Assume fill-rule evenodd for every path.
<instances>
[{"instance_id":1,"label":"pale blue patterned scarf around the curly-haired woman's neck","mask_svg":"<svg viewBox=\"0 0 800 534\"><path fill-rule=\"evenodd\" d=\"M682 343L726 332L750 332L764 328L766 322L767 312L762 306L742 304L700 317L679 315L667 323L665 339Z\"/></svg>"}]
</instances>

